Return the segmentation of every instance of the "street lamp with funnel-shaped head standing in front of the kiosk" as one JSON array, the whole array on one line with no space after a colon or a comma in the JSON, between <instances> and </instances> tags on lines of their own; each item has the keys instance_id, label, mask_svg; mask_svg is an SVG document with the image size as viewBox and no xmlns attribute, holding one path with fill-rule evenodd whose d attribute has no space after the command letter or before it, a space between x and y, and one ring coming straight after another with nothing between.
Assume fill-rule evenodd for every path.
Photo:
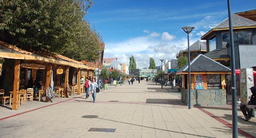
<instances>
[{"instance_id":1,"label":"street lamp with funnel-shaped head standing in front of the kiosk","mask_svg":"<svg viewBox=\"0 0 256 138\"><path fill-rule=\"evenodd\" d=\"M190 51L189 51L189 33L194 27L182 27L188 35L188 108L191 109L191 74L190 74Z\"/></svg>"}]
</instances>

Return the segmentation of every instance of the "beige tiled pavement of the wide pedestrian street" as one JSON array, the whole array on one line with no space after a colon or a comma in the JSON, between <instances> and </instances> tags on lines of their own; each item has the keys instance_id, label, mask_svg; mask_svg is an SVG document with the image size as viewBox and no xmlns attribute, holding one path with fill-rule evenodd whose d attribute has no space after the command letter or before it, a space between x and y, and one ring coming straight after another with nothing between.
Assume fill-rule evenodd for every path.
<instances>
[{"instance_id":1,"label":"beige tiled pavement of the wide pedestrian street","mask_svg":"<svg viewBox=\"0 0 256 138\"><path fill-rule=\"evenodd\" d=\"M231 105L189 110L177 90L154 82L109 86L96 103L84 95L0 106L0 137L232 137ZM238 110L238 128L255 137L256 118L245 122Z\"/></svg>"}]
</instances>

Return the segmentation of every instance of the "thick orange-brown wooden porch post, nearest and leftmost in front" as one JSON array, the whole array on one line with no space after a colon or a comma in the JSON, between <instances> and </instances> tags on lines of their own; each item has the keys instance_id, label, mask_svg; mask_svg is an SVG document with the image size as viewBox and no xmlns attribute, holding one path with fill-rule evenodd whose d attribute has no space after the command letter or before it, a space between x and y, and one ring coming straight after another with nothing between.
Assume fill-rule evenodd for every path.
<instances>
[{"instance_id":1,"label":"thick orange-brown wooden porch post, nearest and leftmost in front","mask_svg":"<svg viewBox=\"0 0 256 138\"><path fill-rule=\"evenodd\" d=\"M19 106L19 74L20 74L20 60L15 60L14 64L14 82L13 82L13 108L18 110Z\"/></svg>"}]
</instances>

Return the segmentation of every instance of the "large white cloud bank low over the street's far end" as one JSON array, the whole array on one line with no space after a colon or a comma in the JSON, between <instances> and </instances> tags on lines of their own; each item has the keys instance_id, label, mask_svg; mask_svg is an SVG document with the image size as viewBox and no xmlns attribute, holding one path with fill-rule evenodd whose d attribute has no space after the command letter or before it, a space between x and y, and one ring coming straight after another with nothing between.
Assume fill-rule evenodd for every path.
<instances>
[{"instance_id":1,"label":"large white cloud bank low over the street's far end","mask_svg":"<svg viewBox=\"0 0 256 138\"><path fill-rule=\"evenodd\" d=\"M155 35L156 36L156 35ZM191 44L199 40L191 37ZM170 39L169 39L170 40ZM155 60L156 66L159 66L160 59L171 60L176 58L176 54L180 50L188 47L187 37L179 40L163 41L161 37L141 36L119 41L117 43L105 44L104 58L117 57L118 61L129 66L129 58L133 55L137 64L137 68L146 68L149 66L149 58Z\"/></svg>"}]
</instances>

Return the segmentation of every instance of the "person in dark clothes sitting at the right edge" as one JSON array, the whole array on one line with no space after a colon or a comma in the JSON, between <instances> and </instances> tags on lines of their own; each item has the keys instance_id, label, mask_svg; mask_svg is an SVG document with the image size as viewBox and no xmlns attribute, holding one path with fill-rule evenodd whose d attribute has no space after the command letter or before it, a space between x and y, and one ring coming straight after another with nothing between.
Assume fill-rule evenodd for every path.
<instances>
[{"instance_id":1,"label":"person in dark clothes sitting at the right edge","mask_svg":"<svg viewBox=\"0 0 256 138\"><path fill-rule=\"evenodd\" d=\"M251 116L252 116L252 110L256 108L256 87L253 86L250 88L251 93L253 93L251 95L251 99L248 103L245 104L241 104L240 105L240 109L243 112L243 115L245 116L245 121L250 120Z\"/></svg>"}]
</instances>

